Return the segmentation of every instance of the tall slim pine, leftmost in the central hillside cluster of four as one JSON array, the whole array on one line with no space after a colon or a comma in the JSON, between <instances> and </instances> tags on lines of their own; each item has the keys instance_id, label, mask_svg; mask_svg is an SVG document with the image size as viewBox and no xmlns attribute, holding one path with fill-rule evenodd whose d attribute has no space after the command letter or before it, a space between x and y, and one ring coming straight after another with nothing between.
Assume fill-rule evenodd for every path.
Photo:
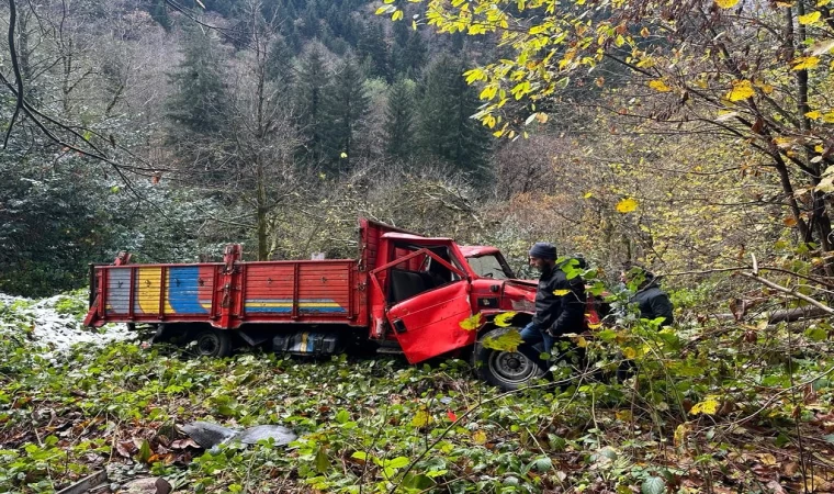
<instances>
[{"instance_id":1,"label":"tall slim pine, leftmost in the central hillside cluster of four","mask_svg":"<svg viewBox=\"0 0 834 494\"><path fill-rule=\"evenodd\" d=\"M302 60L295 85L298 123L304 139L301 155L308 165L318 165L324 157L325 88L328 74L324 55L314 47Z\"/></svg>"}]
</instances>

